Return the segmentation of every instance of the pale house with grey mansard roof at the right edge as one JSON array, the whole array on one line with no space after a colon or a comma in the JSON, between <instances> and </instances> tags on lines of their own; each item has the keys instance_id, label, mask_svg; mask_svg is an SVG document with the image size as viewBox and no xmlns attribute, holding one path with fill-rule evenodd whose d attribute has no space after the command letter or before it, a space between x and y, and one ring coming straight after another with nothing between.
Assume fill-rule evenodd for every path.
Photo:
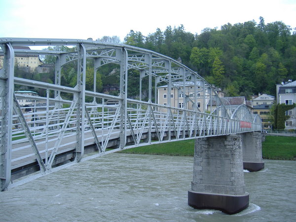
<instances>
[{"instance_id":1,"label":"pale house with grey mansard roof at the right edge","mask_svg":"<svg viewBox=\"0 0 296 222\"><path fill-rule=\"evenodd\" d=\"M295 105L296 104L296 81L289 80L276 85L277 104ZM289 119L285 122L285 129L296 130L296 105L293 109L286 111Z\"/></svg>"}]
</instances>

